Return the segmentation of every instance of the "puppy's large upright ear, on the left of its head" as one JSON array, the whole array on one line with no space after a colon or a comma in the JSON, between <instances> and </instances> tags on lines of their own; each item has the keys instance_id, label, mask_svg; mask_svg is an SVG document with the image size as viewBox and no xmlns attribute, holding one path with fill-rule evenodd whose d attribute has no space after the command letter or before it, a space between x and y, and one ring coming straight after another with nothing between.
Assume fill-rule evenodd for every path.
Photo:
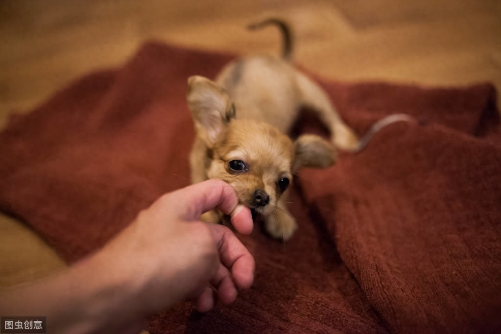
<instances>
[{"instance_id":1,"label":"puppy's large upright ear, on the left of its head","mask_svg":"<svg viewBox=\"0 0 501 334\"><path fill-rule=\"evenodd\" d=\"M226 91L215 82L200 76L188 79L186 99L197 135L208 147L222 139L226 125L235 117L235 108Z\"/></svg>"}]
</instances>

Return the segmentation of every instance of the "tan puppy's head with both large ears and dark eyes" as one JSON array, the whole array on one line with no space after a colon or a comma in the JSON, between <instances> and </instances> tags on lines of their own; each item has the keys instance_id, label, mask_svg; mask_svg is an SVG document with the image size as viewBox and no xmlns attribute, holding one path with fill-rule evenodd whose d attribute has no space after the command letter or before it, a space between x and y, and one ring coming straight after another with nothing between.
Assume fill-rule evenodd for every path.
<instances>
[{"instance_id":1,"label":"tan puppy's head with both large ears and dark eyes","mask_svg":"<svg viewBox=\"0 0 501 334\"><path fill-rule=\"evenodd\" d=\"M235 119L224 89L199 76L188 79L187 93L197 136L206 146L206 174L230 184L241 204L266 217L301 167L326 168L334 147L315 135L294 142L275 127Z\"/></svg>"}]
</instances>

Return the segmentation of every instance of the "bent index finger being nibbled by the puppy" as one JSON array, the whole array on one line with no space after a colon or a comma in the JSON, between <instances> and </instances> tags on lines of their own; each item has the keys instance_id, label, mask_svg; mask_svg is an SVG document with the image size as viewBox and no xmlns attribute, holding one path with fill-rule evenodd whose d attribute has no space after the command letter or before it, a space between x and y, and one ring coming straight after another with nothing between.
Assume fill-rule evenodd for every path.
<instances>
[{"instance_id":1,"label":"bent index finger being nibbled by the puppy","mask_svg":"<svg viewBox=\"0 0 501 334\"><path fill-rule=\"evenodd\" d=\"M254 227L249 208L238 205L233 187L219 180L210 179L182 188L172 193L179 212L186 220L197 220L204 212L218 208L231 216L231 223L242 234L249 234Z\"/></svg>"}]
</instances>

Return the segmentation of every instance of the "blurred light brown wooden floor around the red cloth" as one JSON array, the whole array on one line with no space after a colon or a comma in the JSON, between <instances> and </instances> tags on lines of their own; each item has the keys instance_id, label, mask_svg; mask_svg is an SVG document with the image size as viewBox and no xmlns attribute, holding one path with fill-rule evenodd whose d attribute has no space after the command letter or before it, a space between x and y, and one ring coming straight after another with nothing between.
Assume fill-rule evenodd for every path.
<instances>
[{"instance_id":1,"label":"blurred light brown wooden floor around the red cloth","mask_svg":"<svg viewBox=\"0 0 501 334\"><path fill-rule=\"evenodd\" d=\"M289 20L295 61L324 77L501 89L498 0L3 0L0 127L72 79L119 66L148 39L278 53L275 30L244 29L269 16ZM0 217L0 286L62 267L29 229Z\"/></svg>"}]
</instances>

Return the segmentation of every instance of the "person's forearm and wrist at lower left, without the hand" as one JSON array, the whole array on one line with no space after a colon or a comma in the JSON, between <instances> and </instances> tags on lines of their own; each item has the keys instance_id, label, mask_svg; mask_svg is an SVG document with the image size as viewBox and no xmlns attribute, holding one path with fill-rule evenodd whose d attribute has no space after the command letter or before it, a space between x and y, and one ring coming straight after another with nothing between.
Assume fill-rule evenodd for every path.
<instances>
[{"instance_id":1,"label":"person's forearm and wrist at lower left, without the hand","mask_svg":"<svg viewBox=\"0 0 501 334\"><path fill-rule=\"evenodd\" d=\"M135 311L132 284L104 276L98 256L50 277L0 293L2 315L46 315L51 333L114 332ZM120 312L118 312L120 309Z\"/></svg>"}]
</instances>

